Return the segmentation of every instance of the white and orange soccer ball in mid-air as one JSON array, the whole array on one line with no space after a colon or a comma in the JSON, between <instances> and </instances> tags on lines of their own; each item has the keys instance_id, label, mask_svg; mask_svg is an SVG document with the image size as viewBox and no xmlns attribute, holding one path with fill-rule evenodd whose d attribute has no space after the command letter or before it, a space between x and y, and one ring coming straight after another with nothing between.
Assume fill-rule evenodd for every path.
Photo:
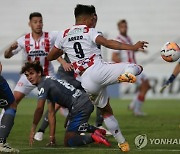
<instances>
[{"instance_id":1,"label":"white and orange soccer ball in mid-air","mask_svg":"<svg viewBox=\"0 0 180 154\"><path fill-rule=\"evenodd\" d=\"M174 42L167 42L161 49L161 57L167 62L175 62L180 58L180 48Z\"/></svg>"}]
</instances>

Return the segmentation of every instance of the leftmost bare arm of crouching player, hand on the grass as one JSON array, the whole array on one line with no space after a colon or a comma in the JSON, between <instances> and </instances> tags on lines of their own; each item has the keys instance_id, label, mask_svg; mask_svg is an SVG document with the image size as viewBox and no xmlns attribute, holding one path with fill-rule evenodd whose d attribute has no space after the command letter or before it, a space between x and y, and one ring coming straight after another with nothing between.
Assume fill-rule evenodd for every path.
<instances>
[{"instance_id":1,"label":"leftmost bare arm of crouching player, hand on the grass","mask_svg":"<svg viewBox=\"0 0 180 154\"><path fill-rule=\"evenodd\" d=\"M33 124L32 124L31 132L30 132L30 135L29 135L29 145L30 146L33 145L34 134L36 132L36 127L37 127L37 125L38 125L38 123L41 120L41 117L43 115L45 101L46 100L39 99L36 110L34 112Z\"/></svg>"}]
</instances>

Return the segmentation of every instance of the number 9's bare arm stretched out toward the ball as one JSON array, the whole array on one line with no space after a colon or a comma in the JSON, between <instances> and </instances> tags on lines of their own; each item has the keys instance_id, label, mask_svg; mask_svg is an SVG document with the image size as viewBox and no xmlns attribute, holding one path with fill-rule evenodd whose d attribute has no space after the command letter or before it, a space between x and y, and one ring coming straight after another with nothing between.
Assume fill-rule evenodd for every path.
<instances>
[{"instance_id":1,"label":"number 9's bare arm stretched out toward the ball","mask_svg":"<svg viewBox=\"0 0 180 154\"><path fill-rule=\"evenodd\" d=\"M145 42L145 41L138 41L134 45L129 45L125 43L120 43L116 40L108 40L101 35L98 35L96 37L96 43L99 45L103 45L107 48L114 49L114 50L133 50L133 51L144 49L147 47L147 44L148 44L148 42Z\"/></svg>"}]
</instances>

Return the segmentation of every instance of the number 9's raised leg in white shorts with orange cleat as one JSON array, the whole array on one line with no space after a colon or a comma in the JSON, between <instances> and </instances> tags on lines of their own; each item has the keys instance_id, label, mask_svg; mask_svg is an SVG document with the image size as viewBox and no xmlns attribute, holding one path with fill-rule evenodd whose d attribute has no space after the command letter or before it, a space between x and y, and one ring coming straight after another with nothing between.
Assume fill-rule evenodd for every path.
<instances>
[{"instance_id":1,"label":"number 9's raised leg in white shorts with orange cleat","mask_svg":"<svg viewBox=\"0 0 180 154\"><path fill-rule=\"evenodd\" d=\"M98 94L100 89L118 82L135 82L143 68L137 64L97 62L81 76L82 87L90 94Z\"/></svg>"}]
</instances>

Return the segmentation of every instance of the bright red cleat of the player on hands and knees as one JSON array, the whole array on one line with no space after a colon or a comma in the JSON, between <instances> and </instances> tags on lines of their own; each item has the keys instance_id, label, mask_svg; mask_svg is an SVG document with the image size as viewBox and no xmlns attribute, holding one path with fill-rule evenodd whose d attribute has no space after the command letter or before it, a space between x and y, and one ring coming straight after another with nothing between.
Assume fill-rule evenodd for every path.
<instances>
[{"instance_id":1,"label":"bright red cleat of the player on hands and knees","mask_svg":"<svg viewBox=\"0 0 180 154\"><path fill-rule=\"evenodd\" d=\"M109 147L111 144L102 134L104 134L104 131L97 129L93 134L91 134L91 137L96 143L101 143Z\"/></svg>"}]
</instances>

